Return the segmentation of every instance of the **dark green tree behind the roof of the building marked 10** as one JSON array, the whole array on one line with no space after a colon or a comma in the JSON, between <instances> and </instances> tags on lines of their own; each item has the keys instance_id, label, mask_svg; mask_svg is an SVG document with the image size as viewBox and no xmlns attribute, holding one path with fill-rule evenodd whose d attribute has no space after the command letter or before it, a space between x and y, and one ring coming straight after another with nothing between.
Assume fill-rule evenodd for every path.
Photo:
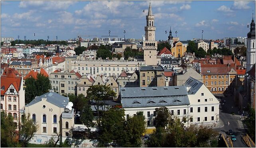
<instances>
[{"instance_id":1,"label":"dark green tree behind the roof of the building marked 10","mask_svg":"<svg viewBox=\"0 0 256 148\"><path fill-rule=\"evenodd\" d=\"M37 74L37 79L33 77L25 80L25 103L30 103L35 96L43 95L51 89L51 83L48 77Z\"/></svg>"}]
</instances>

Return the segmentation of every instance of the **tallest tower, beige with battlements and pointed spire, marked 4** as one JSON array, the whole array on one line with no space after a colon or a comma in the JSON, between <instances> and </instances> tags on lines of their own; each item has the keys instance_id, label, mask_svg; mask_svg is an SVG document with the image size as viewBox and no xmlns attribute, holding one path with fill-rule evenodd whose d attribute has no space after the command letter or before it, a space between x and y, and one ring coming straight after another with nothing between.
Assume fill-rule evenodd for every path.
<instances>
[{"instance_id":1,"label":"tallest tower, beige with battlements and pointed spire, marked 4","mask_svg":"<svg viewBox=\"0 0 256 148\"><path fill-rule=\"evenodd\" d=\"M154 26L155 16L152 14L151 5L148 8L146 16L147 25L145 26L145 41L143 41L144 61L146 65L157 65L157 48L158 42L155 38L156 26Z\"/></svg>"}]
</instances>

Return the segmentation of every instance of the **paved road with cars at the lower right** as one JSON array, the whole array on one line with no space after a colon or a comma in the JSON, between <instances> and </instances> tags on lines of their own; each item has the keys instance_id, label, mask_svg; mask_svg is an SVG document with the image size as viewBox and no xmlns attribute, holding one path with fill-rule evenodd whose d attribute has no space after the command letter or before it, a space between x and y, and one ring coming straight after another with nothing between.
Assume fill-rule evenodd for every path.
<instances>
[{"instance_id":1,"label":"paved road with cars at the lower right","mask_svg":"<svg viewBox=\"0 0 256 148\"><path fill-rule=\"evenodd\" d=\"M240 121L240 115L238 114L238 109L234 107L232 98L223 98L226 100L226 103L220 105L220 119L224 123L224 127L216 129L222 133L225 137L227 135L227 130L231 129L236 136L236 141L233 141L233 146L237 147L247 147L244 141L241 138L241 134L245 133L242 121ZM231 112L236 113L236 115L230 114ZM230 125L228 125L228 122ZM230 135L228 135L230 136Z\"/></svg>"}]
</instances>

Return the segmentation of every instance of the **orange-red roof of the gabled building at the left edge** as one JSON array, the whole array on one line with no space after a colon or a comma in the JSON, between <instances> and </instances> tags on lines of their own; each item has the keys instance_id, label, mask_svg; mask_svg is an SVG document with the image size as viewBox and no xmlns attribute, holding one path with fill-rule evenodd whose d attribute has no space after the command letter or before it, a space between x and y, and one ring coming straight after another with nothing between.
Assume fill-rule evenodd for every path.
<instances>
[{"instance_id":1,"label":"orange-red roof of the gabled building at the left edge","mask_svg":"<svg viewBox=\"0 0 256 148\"><path fill-rule=\"evenodd\" d=\"M14 86L16 91L19 92L22 83L22 77L18 76L17 73L18 71L14 68L6 68L4 70L4 73L1 76L1 95L4 95L11 84Z\"/></svg>"}]
</instances>

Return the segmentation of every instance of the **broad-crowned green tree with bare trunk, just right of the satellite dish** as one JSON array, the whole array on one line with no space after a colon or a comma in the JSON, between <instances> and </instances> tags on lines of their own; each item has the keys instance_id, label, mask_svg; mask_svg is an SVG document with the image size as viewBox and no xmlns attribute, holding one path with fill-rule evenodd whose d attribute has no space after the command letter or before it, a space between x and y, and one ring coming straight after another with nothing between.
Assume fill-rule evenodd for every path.
<instances>
[{"instance_id":1,"label":"broad-crowned green tree with bare trunk, just right of the satellite dish","mask_svg":"<svg viewBox=\"0 0 256 148\"><path fill-rule=\"evenodd\" d=\"M93 85L88 88L86 91L87 98L90 101L95 101L96 111L97 111L97 124L100 126L100 107L102 107L102 111L105 109L105 101L106 100L113 100L116 96L116 93L111 90L109 86L106 85Z\"/></svg>"}]
</instances>

